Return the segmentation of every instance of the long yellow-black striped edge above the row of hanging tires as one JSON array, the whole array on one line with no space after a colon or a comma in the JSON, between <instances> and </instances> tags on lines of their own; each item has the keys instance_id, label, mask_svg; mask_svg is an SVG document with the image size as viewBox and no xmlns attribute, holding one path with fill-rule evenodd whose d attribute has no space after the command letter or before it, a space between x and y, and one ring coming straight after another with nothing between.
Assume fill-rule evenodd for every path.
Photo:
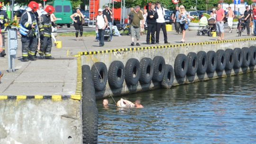
<instances>
[{"instance_id":1,"label":"long yellow-black striped edge above the row of hanging tires","mask_svg":"<svg viewBox=\"0 0 256 144\"><path fill-rule=\"evenodd\" d=\"M180 46L194 46L194 45L214 45L221 43L233 43L233 42L241 42L241 41L250 41L256 40L253 38L242 38L242 39L233 39L233 40L224 40L224 41L210 41L210 42L199 42L199 43L187 43L187 44L178 44L178 45L158 45L158 46L148 46L148 47L133 47L133 48L120 48L120 49L112 49L112 50L104 50L104 51L92 51L92 52L79 52L78 55L88 55L88 54L107 54L113 52L121 52L121 51L137 51L137 50L147 50L147 49L161 49L161 48L174 48Z\"/></svg>"}]
</instances>

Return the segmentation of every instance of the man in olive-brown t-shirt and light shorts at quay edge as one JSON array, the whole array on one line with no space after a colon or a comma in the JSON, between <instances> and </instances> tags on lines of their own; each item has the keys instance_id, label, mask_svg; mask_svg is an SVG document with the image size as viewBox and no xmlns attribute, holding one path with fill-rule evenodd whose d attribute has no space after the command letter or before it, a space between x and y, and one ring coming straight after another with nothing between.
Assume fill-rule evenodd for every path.
<instances>
[{"instance_id":1,"label":"man in olive-brown t-shirt and light shorts at quay edge","mask_svg":"<svg viewBox=\"0 0 256 144\"><path fill-rule=\"evenodd\" d=\"M140 39L140 28L144 28L144 18L143 14L140 11L140 7L136 6L136 9L131 11L129 13L129 17L132 17L132 20L130 21L131 23L131 39L132 43L131 45L134 45L134 39L136 38L136 45L139 46L139 39ZM140 20L141 20L141 25L140 25Z\"/></svg>"}]
</instances>

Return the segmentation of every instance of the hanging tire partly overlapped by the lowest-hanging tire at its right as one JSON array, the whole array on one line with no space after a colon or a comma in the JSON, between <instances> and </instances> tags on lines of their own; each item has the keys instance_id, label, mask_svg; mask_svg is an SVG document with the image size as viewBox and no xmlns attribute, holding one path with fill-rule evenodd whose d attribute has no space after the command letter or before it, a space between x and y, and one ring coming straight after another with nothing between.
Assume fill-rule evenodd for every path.
<instances>
[{"instance_id":1,"label":"hanging tire partly overlapped by the lowest-hanging tire at its right","mask_svg":"<svg viewBox=\"0 0 256 144\"><path fill-rule=\"evenodd\" d=\"M165 59L163 56L155 56L153 59L154 70L153 70L153 81L162 81L165 74Z\"/></svg>"}]
</instances>

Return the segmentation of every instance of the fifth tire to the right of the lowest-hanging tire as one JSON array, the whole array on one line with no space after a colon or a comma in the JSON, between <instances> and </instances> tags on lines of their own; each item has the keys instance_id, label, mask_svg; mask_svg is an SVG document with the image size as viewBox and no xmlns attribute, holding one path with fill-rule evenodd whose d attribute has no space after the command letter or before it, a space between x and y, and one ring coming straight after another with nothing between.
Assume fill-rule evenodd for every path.
<instances>
[{"instance_id":1,"label":"fifth tire to the right of the lowest-hanging tire","mask_svg":"<svg viewBox=\"0 0 256 144\"><path fill-rule=\"evenodd\" d=\"M218 72L222 72L224 71L225 67L226 67L226 54L224 50L218 50L216 52L217 55L217 67L216 67L216 71Z\"/></svg>"}]
</instances>

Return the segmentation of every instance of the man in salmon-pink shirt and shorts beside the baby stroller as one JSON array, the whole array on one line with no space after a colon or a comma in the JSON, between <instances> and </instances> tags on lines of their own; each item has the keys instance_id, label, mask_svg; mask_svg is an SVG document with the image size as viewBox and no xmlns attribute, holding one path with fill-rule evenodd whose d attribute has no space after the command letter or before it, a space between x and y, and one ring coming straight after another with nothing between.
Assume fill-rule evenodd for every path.
<instances>
[{"instance_id":1,"label":"man in salmon-pink shirt and shorts beside the baby stroller","mask_svg":"<svg viewBox=\"0 0 256 144\"><path fill-rule=\"evenodd\" d=\"M219 33L219 38L217 40L224 40L224 21L225 12L221 8L221 4L218 4L218 10L216 12L216 30Z\"/></svg>"}]
</instances>

